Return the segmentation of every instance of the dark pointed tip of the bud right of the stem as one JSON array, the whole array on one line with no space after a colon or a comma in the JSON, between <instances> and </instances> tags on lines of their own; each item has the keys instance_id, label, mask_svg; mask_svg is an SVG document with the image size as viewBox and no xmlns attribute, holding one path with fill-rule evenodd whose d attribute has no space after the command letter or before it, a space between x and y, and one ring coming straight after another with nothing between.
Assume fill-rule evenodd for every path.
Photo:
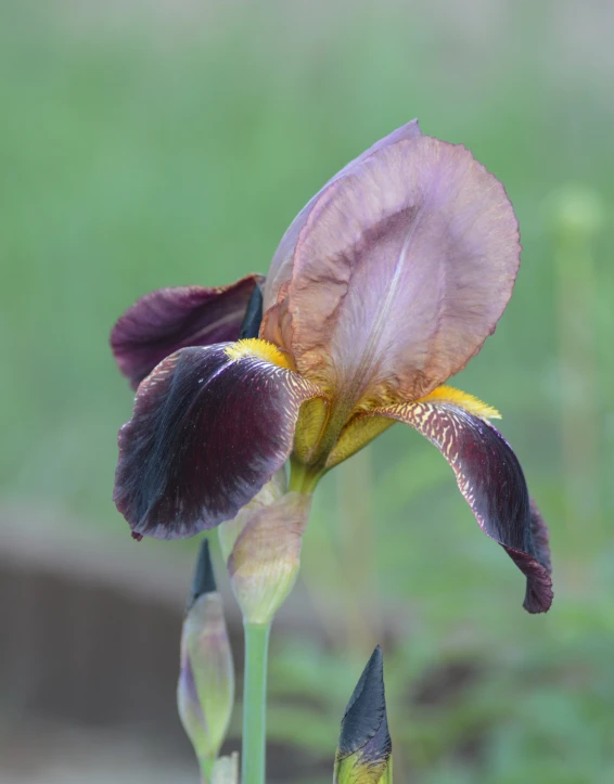
<instances>
[{"instance_id":1,"label":"dark pointed tip of the bud right of the stem","mask_svg":"<svg viewBox=\"0 0 614 784\"><path fill-rule=\"evenodd\" d=\"M338 751L342 757L364 746L386 721L384 657L378 647L371 654L347 704L341 723ZM384 733L387 735L387 729Z\"/></svg>"}]
</instances>

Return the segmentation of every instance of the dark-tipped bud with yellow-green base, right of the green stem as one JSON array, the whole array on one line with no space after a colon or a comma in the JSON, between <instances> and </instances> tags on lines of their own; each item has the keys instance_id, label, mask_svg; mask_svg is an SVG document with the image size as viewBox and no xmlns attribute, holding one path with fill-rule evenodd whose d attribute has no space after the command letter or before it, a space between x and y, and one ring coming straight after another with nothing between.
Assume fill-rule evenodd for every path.
<instances>
[{"instance_id":1,"label":"dark-tipped bud with yellow-green base, right of the green stem","mask_svg":"<svg viewBox=\"0 0 614 784\"><path fill-rule=\"evenodd\" d=\"M334 784L392 784L392 753L384 695L384 661L378 645L341 722Z\"/></svg>"}]
</instances>

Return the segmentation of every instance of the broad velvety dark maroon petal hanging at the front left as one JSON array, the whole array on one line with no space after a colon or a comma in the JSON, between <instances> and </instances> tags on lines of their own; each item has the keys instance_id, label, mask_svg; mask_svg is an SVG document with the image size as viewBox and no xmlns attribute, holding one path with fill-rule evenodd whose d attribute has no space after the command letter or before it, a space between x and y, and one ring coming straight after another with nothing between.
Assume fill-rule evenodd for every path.
<instances>
[{"instance_id":1,"label":"broad velvety dark maroon petal hanging at the front left","mask_svg":"<svg viewBox=\"0 0 614 784\"><path fill-rule=\"evenodd\" d=\"M300 404L319 390L255 355L233 359L232 347L181 349L140 385L114 493L136 538L234 517L287 460Z\"/></svg>"}]
</instances>

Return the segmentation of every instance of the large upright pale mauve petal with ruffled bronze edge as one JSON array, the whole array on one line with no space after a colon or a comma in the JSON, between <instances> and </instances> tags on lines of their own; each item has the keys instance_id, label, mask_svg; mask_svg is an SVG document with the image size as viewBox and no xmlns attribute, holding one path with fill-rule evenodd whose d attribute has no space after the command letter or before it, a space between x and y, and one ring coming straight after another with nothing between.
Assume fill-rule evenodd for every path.
<instances>
[{"instance_id":1,"label":"large upright pale mauve petal with ruffled bronze edge","mask_svg":"<svg viewBox=\"0 0 614 784\"><path fill-rule=\"evenodd\" d=\"M479 350L511 296L514 211L463 146L425 136L382 146L303 222L260 334L346 400L428 394Z\"/></svg>"}]
</instances>

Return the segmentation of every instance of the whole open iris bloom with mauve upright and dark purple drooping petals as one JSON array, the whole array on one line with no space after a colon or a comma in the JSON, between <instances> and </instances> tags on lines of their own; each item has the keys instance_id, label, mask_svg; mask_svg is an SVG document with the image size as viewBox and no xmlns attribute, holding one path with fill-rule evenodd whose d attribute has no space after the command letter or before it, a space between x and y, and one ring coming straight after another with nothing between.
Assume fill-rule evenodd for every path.
<instances>
[{"instance_id":1,"label":"whole open iris bloom with mauve upright and dark purple drooping petals","mask_svg":"<svg viewBox=\"0 0 614 784\"><path fill-rule=\"evenodd\" d=\"M132 535L213 528L289 460L290 489L310 492L402 422L442 452L482 530L525 575L525 608L547 611L548 532L490 423L499 414L445 385L495 331L520 252L501 183L413 120L311 198L266 280L138 300L111 339L138 385L115 485Z\"/></svg>"}]
</instances>

